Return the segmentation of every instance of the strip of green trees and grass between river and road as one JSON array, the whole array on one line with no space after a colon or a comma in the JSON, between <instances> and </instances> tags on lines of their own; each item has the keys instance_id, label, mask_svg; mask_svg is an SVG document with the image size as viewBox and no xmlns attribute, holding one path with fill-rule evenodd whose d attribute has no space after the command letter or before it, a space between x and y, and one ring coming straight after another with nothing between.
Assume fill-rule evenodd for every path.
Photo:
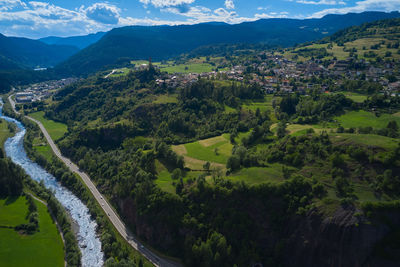
<instances>
[{"instance_id":1,"label":"strip of green trees and grass between river and road","mask_svg":"<svg viewBox=\"0 0 400 267\"><path fill-rule=\"evenodd\" d=\"M10 98L9 98L10 100ZM12 99L11 99L12 100ZM9 104L9 110L11 108L15 107L12 105L13 102L11 102L11 105ZM19 113L19 112L18 112ZM17 114L18 114L17 113ZM147 250L147 248L144 248L143 246L137 245L137 240L135 238L129 239L129 241L126 241L126 237L128 234L126 233L126 228L123 226L123 223L117 223L118 228L115 228L114 222L110 221L110 216L107 216L107 214L114 214L115 218L118 218L116 213L114 213L114 210L109 207L109 210L106 212L104 211L104 206L100 205L99 203L107 204L108 203L104 200L104 198L98 193L97 198L99 201L96 201L96 198L92 196L93 191L96 190L96 187L94 184L92 185L86 185L83 183L83 179L81 180L78 175L74 175L66 166L75 166L72 162L70 162L68 159L65 159L67 163L65 164L64 162L61 162L61 160L56 157L61 156L61 153L59 152L58 148L55 146L54 142L51 140L50 135L47 134L46 129L44 128L43 125L41 125L43 129L41 129L44 134L41 135L39 132L39 127L37 127L36 124L33 122L39 124L39 121L35 121L32 118L29 118L30 120L27 120L23 118L21 115L17 115L21 120L24 121L24 123L27 125L28 128L28 133L26 136L25 140L25 148L28 152L28 155L30 158L34 159L40 165L45 168L47 171L52 173L57 179L65 185L68 189L70 189L76 196L78 196L89 208L89 211L92 215L93 218L96 219L98 222L98 234L101 238L102 243L104 244L103 247L103 252L105 254L106 259L110 259L110 262L113 262L113 259L116 259L117 261L123 261L126 263L132 263L132 264L139 264L143 266L153 266L153 264L148 261L144 256L142 256L136 249L139 249L141 251ZM29 127L28 127L29 126ZM46 132L46 133L45 133ZM51 151L52 157L50 160L46 159L44 155L40 156L40 152L37 150L33 149L32 144L34 138L38 138L39 136L46 136L50 139L50 141L53 144L52 148L55 148L56 153ZM39 143L48 143L48 139L46 140L44 137ZM40 159L39 159L40 158ZM39 159L39 160L38 160ZM74 168L75 172L78 172L78 167L75 166ZM119 219L119 218L118 218ZM114 224L114 225L113 225ZM125 232L126 234L121 235L121 231ZM133 244L133 245L132 245ZM136 245L135 245L136 244ZM134 246L135 245L135 246ZM156 260L159 259L158 256L153 256L153 263L156 263ZM108 261L106 261L107 263ZM162 266L170 266L170 264L167 265L162 265Z\"/></svg>"}]
</instances>

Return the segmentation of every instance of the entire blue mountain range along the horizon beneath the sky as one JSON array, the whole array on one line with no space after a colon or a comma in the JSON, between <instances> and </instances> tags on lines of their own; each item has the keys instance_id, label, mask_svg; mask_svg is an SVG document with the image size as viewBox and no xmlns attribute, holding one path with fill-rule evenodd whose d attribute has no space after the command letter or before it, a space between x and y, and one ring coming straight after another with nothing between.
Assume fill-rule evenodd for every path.
<instances>
[{"instance_id":1,"label":"entire blue mountain range along the horizon beneath the sky","mask_svg":"<svg viewBox=\"0 0 400 267\"><path fill-rule=\"evenodd\" d=\"M80 76L133 59L168 59L207 45L262 43L288 47L346 27L397 17L399 12L363 12L321 19L261 19L235 25L128 26L107 33L39 40L0 34L0 70L55 66L59 75Z\"/></svg>"}]
</instances>

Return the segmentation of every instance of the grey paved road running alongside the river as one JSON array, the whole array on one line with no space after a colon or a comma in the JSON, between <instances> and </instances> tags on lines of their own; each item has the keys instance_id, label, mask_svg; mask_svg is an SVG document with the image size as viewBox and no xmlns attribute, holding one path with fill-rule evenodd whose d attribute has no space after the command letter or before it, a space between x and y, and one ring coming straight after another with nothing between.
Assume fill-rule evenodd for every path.
<instances>
[{"instance_id":1,"label":"grey paved road running alongside the river","mask_svg":"<svg viewBox=\"0 0 400 267\"><path fill-rule=\"evenodd\" d=\"M8 97L8 100L11 103L11 106L16 114L20 114L16 109L15 109L15 102L12 100L12 95ZM127 229L125 224L122 222L122 220L118 217L118 215L114 212L114 210L111 208L111 205L107 202L107 200L100 194L100 192L97 190L96 186L93 184L93 182L90 180L89 176L82 172L77 165L75 165L70 159L64 157L61 155L60 150L58 147L55 145L53 139L51 139L49 133L47 132L46 128L44 128L43 124L29 116L25 116L29 120L35 122L37 125L39 125L40 130L43 132L44 136L46 137L47 142L49 143L51 149L53 150L54 154L62 160L65 165L74 173L78 174L83 182L86 184L86 186L89 188L90 192L93 194L95 197L96 201L100 204L101 208L104 210L104 212L107 214L108 218L110 219L111 223L114 225L114 227L117 229L117 231L121 234L121 236L137 251L139 251L144 257L146 257L151 263L153 263L155 266L160 266L160 267L174 267L174 266L181 266L178 263L172 262L167 259L160 258L157 256L155 253L153 253L151 250L147 249L144 247Z\"/></svg>"}]
</instances>

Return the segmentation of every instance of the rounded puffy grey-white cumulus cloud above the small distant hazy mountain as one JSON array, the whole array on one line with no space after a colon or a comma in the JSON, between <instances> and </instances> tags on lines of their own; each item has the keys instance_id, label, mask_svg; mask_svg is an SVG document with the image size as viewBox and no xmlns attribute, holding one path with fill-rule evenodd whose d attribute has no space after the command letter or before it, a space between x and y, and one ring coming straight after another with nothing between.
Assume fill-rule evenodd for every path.
<instances>
[{"instance_id":1,"label":"rounded puffy grey-white cumulus cloud above the small distant hazy mountain","mask_svg":"<svg viewBox=\"0 0 400 267\"><path fill-rule=\"evenodd\" d=\"M119 8L105 3L96 3L88 7L86 16L104 24L117 24L120 17Z\"/></svg>"}]
</instances>

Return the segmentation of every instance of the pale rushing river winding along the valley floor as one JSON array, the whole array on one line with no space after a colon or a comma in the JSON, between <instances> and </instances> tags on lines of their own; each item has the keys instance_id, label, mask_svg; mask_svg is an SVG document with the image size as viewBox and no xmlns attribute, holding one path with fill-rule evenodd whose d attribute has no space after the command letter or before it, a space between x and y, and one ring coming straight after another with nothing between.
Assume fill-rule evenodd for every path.
<instances>
[{"instance_id":1,"label":"pale rushing river winding along the valley floor","mask_svg":"<svg viewBox=\"0 0 400 267\"><path fill-rule=\"evenodd\" d=\"M4 144L6 155L35 181L44 182L46 188L54 192L55 197L69 212L72 219L78 224L77 239L82 253L82 266L98 267L104 263L104 254L101 242L96 234L97 223L90 217L89 209L71 191L63 187L55 177L28 158L24 149L24 125L13 118L3 116L3 101L0 98L0 118L14 123L18 132Z\"/></svg>"}]
</instances>

